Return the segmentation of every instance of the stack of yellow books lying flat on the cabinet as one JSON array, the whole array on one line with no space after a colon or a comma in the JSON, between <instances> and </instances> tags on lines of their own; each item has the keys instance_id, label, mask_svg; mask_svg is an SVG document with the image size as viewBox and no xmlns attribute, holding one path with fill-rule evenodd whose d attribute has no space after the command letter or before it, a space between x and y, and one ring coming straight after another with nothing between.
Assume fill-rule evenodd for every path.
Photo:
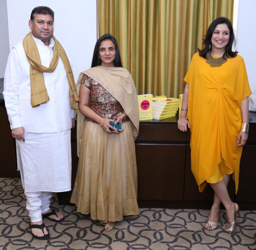
<instances>
[{"instance_id":1,"label":"stack of yellow books lying flat on the cabinet","mask_svg":"<svg viewBox=\"0 0 256 250\"><path fill-rule=\"evenodd\" d=\"M162 120L176 115L179 108L179 99L170 97L166 101L153 102L153 119Z\"/></svg>"}]
</instances>

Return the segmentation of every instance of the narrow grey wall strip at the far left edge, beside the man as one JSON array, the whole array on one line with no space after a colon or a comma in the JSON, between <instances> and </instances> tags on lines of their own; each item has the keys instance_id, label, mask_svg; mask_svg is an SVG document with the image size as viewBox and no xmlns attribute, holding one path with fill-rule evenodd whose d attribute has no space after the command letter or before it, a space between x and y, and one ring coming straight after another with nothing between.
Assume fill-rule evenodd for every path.
<instances>
[{"instance_id":1,"label":"narrow grey wall strip at the far left edge, beside the man","mask_svg":"<svg viewBox=\"0 0 256 250\"><path fill-rule=\"evenodd\" d=\"M9 36L6 0L0 1L0 78L4 77L6 62L9 55Z\"/></svg>"}]
</instances>

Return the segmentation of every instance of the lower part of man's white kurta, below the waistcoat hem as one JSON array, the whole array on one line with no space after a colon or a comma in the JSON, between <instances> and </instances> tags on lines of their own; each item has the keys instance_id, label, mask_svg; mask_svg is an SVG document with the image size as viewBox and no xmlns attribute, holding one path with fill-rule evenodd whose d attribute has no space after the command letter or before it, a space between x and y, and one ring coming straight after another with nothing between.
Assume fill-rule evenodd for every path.
<instances>
[{"instance_id":1,"label":"lower part of man's white kurta, below the waistcoat hem","mask_svg":"<svg viewBox=\"0 0 256 250\"><path fill-rule=\"evenodd\" d=\"M70 129L59 133L24 133L18 141L25 192L71 190Z\"/></svg>"}]
</instances>

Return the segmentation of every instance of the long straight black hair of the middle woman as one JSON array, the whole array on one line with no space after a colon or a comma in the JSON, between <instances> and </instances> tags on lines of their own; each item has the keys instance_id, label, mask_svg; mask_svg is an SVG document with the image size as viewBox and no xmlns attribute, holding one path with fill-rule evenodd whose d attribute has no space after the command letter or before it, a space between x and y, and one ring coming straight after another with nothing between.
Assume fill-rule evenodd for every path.
<instances>
[{"instance_id":1,"label":"long straight black hair of the middle woman","mask_svg":"<svg viewBox=\"0 0 256 250\"><path fill-rule=\"evenodd\" d=\"M92 56L92 65L91 67L95 67L95 66L99 66L101 65L101 60L100 60L100 56L99 56L99 49L100 49L100 45L101 42L104 40L111 40L114 44L115 44L115 49L116 49L116 58L114 59L114 66L115 67L123 67L122 66L122 62L121 62L121 56L120 56L120 51L118 48L118 44L116 39L110 35L110 34L105 34L103 36L101 36L96 44L95 44L95 48L94 48L94 52L93 52L93 56Z\"/></svg>"}]
</instances>

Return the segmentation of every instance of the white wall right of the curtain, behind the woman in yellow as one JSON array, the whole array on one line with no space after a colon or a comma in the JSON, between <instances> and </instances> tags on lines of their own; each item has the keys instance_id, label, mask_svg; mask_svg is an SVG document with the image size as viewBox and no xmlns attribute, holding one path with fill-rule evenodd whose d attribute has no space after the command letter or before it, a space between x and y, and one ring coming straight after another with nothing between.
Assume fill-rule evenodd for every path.
<instances>
[{"instance_id":1,"label":"white wall right of the curtain, behind the woman in yellow","mask_svg":"<svg viewBox=\"0 0 256 250\"><path fill-rule=\"evenodd\" d=\"M254 93L256 93L255 9L255 0L240 0L237 34L237 51L244 58L250 87Z\"/></svg>"}]
</instances>

